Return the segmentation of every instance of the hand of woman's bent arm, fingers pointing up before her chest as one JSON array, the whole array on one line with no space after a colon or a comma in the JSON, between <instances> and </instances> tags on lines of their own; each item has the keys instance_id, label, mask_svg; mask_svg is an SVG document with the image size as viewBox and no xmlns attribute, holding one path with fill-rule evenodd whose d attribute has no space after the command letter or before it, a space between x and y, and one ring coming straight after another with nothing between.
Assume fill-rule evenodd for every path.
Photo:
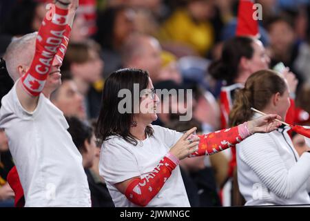
<instances>
[{"instance_id":1,"label":"hand of woman's bent arm, fingers pointing up before her chest","mask_svg":"<svg viewBox=\"0 0 310 221\"><path fill-rule=\"evenodd\" d=\"M180 137L180 140L178 140L178 142L172 146L169 152L179 160L182 160L188 155L197 151L200 138L197 136L192 136L189 138L189 136L192 135L196 129L196 127L193 127L185 134L183 134L183 136Z\"/></svg>"}]
</instances>

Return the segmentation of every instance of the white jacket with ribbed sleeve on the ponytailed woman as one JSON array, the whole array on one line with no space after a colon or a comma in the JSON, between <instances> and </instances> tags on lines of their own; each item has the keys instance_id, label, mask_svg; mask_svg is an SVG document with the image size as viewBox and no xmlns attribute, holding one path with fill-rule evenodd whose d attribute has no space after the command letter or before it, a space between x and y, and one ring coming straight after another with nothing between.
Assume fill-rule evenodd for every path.
<instances>
[{"instance_id":1,"label":"white jacket with ribbed sleeve on the ponytailed woman","mask_svg":"<svg viewBox=\"0 0 310 221\"><path fill-rule=\"evenodd\" d=\"M237 145L238 185L245 205L310 204L310 153L298 156L288 130L256 133Z\"/></svg>"}]
</instances>

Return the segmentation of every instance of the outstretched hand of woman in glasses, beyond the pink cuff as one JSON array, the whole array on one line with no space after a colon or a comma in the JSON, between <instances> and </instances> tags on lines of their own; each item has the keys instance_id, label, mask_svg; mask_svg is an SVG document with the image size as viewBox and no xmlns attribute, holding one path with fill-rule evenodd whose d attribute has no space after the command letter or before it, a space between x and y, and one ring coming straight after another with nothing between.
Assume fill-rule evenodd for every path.
<instances>
[{"instance_id":1,"label":"outstretched hand of woman in glasses, beyond the pink cuff","mask_svg":"<svg viewBox=\"0 0 310 221\"><path fill-rule=\"evenodd\" d=\"M281 117L279 115L273 114L264 115L262 117L250 120L247 123L249 133L269 133L276 130L276 128L281 126L281 123L277 122L275 119L281 119Z\"/></svg>"}]
</instances>

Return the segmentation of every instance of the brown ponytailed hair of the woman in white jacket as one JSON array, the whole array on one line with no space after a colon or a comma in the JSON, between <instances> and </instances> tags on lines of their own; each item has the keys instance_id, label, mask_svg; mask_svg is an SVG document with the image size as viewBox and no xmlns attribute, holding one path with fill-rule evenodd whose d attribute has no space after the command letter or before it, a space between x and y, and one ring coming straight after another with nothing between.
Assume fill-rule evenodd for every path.
<instances>
[{"instance_id":1,"label":"brown ponytailed hair of the woman in white jacket","mask_svg":"<svg viewBox=\"0 0 310 221\"><path fill-rule=\"evenodd\" d=\"M245 88L236 92L234 106L229 113L229 125L236 126L251 119L251 107L262 110L272 95L283 95L287 89L285 79L273 70L258 70L245 82Z\"/></svg>"}]
</instances>

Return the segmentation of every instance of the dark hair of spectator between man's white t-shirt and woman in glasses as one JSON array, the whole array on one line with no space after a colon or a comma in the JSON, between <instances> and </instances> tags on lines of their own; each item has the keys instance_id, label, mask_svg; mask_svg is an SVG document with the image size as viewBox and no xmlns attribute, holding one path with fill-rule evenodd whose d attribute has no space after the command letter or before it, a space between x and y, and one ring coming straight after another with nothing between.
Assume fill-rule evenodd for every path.
<instances>
[{"instance_id":1,"label":"dark hair of spectator between man's white t-shirt and woman in glasses","mask_svg":"<svg viewBox=\"0 0 310 221\"><path fill-rule=\"evenodd\" d=\"M65 117L65 119L67 119L69 124L68 132L70 133L76 148L82 152L85 148L85 140L90 143L90 140L92 139L92 126L81 121L81 119L77 117Z\"/></svg>"}]
</instances>

